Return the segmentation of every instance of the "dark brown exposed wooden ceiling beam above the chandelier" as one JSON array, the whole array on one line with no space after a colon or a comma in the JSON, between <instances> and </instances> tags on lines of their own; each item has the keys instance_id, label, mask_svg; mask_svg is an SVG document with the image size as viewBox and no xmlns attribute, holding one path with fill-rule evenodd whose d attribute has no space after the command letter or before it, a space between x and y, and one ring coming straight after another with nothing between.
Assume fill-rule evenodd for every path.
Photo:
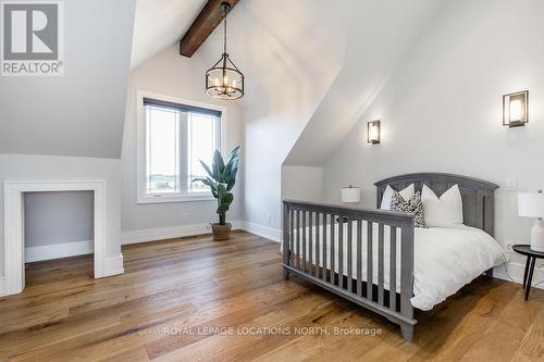
<instances>
[{"instance_id":1,"label":"dark brown exposed wooden ceiling beam above the chandelier","mask_svg":"<svg viewBox=\"0 0 544 362\"><path fill-rule=\"evenodd\" d=\"M239 0L208 0L200 14L190 25L189 29L180 41L180 54L193 57L197 49L210 36L213 29L221 24L224 18L221 4L228 2L231 10L238 3Z\"/></svg>"}]
</instances>

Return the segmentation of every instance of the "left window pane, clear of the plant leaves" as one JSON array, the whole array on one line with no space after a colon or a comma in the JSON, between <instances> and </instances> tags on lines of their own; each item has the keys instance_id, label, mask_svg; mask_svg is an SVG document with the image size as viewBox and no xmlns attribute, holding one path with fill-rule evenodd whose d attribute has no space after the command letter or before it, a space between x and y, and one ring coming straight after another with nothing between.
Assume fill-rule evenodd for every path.
<instances>
[{"instance_id":1,"label":"left window pane, clear of the plant leaves","mask_svg":"<svg viewBox=\"0 0 544 362\"><path fill-rule=\"evenodd\" d=\"M146 107L146 192L180 192L177 111Z\"/></svg>"}]
</instances>

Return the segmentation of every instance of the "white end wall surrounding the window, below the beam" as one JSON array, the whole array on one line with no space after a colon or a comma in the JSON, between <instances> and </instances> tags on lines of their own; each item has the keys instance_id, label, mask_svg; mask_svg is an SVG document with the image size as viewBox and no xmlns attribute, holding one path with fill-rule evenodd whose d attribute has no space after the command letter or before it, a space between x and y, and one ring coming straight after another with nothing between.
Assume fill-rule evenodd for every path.
<instances>
[{"instance_id":1,"label":"white end wall surrounding the window, below the beam","mask_svg":"<svg viewBox=\"0 0 544 362\"><path fill-rule=\"evenodd\" d=\"M177 97L198 102L215 103L226 107L226 145L231 150L242 145L240 111L235 102L217 101L205 95L203 75L207 67L198 54L193 58L180 57L177 45L160 52L131 73L128 82L126 121L123 137L123 232L154 229L172 226L195 225L215 222L217 202L169 202L136 203L136 92L137 90ZM243 146L243 145L242 145ZM244 146L242 153L244 154ZM243 168L243 158L242 167ZM227 214L227 220L242 216L243 171L238 172L235 199Z\"/></svg>"}]
</instances>

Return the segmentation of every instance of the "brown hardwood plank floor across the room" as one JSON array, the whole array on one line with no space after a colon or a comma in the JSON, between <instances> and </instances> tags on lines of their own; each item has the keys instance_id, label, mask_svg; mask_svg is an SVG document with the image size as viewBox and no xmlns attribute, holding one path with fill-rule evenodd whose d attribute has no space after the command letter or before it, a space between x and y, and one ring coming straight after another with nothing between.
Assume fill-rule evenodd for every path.
<instances>
[{"instance_id":1,"label":"brown hardwood plank floor across the room","mask_svg":"<svg viewBox=\"0 0 544 362\"><path fill-rule=\"evenodd\" d=\"M544 360L544 290L524 301L520 285L480 277L417 313L408 344L372 313L283 280L279 245L251 234L123 254L125 274L103 279L90 257L27 265L24 292L0 299L0 360Z\"/></svg>"}]
</instances>

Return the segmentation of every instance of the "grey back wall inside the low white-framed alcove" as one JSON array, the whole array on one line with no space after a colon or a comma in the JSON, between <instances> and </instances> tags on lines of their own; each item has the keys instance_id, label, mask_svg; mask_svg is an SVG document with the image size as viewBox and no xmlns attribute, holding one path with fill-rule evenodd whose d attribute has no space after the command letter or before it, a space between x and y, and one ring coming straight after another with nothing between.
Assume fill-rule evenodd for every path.
<instances>
[{"instance_id":1,"label":"grey back wall inside the low white-framed alcove","mask_svg":"<svg viewBox=\"0 0 544 362\"><path fill-rule=\"evenodd\" d=\"M94 239L94 192L26 192L25 247Z\"/></svg>"}]
</instances>

